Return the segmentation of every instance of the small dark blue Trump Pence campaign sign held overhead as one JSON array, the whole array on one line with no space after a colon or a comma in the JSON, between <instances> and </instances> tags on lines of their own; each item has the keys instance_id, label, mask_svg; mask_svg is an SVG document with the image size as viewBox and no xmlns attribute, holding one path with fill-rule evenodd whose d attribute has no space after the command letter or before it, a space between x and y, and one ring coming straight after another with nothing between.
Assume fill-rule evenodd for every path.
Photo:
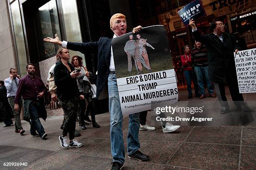
<instances>
[{"instance_id":1,"label":"small dark blue Trump Pence campaign sign held overhead","mask_svg":"<svg viewBox=\"0 0 256 170\"><path fill-rule=\"evenodd\" d=\"M195 20L206 16L201 0L194 0L188 3L178 11L178 14L186 27L189 25L189 19Z\"/></svg>"}]
</instances>

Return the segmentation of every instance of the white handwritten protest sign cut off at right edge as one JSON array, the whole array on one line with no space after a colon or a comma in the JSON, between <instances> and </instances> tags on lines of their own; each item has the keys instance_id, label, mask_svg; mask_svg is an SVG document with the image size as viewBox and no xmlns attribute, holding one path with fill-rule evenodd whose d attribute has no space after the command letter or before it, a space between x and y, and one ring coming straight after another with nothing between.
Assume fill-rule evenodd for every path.
<instances>
[{"instance_id":1,"label":"white handwritten protest sign cut off at right edge","mask_svg":"<svg viewBox=\"0 0 256 170\"><path fill-rule=\"evenodd\" d=\"M256 48L234 53L239 92L256 92Z\"/></svg>"}]
</instances>

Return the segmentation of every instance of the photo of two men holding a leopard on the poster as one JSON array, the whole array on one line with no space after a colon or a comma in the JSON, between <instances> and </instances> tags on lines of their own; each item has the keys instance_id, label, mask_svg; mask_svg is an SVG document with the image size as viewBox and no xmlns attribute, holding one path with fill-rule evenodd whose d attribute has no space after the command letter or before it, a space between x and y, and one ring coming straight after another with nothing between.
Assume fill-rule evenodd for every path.
<instances>
[{"instance_id":1,"label":"photo of two men holding a leopard on the poster","mask_svg":"<svg viewBox=\"0 0 256 170\"><path fill-rule=\"evenodd\" d=\"M173 69L169 42L163 25L142 28L113 38L117 78Z\"/></svg>"}]
</instances>

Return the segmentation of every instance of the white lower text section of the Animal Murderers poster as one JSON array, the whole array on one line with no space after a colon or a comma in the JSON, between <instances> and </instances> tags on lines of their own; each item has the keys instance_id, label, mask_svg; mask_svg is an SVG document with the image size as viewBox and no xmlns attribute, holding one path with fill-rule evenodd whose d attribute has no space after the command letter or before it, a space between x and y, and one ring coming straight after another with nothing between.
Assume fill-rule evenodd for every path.
<instances>
[{"instance_id":1,"label":"white lower text section of the Animal Murderers poster","mask_svg":"<svg viewBox=\"0 0 256 170\"><path fill-rule=\"evenodd\" d=\"M153 101L163 107L178 101L174 69L118 78L117 83L123 115L150 110Z\"/></svg>"}]
</instances>

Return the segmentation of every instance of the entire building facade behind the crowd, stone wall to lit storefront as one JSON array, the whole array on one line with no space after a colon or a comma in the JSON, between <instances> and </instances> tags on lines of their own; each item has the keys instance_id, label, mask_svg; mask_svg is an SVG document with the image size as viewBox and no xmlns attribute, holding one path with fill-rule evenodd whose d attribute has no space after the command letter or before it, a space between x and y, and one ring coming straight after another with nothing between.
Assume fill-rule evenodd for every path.
<instances>
[{"instance_id":1,"label":"entire building facade behind the crowd, stone wall to lit storefront","mask_svg":"<svg viewBox=\"0 0 256 170\"><path fill-rule=\"evenodd\" d=\"M0 79L9 76L10 67L26 75L28 62L36 65L37 75L46 83L49 68L55 63L57 45L43 41L58 34L61 40L73 42L97 41L112 37L109 19L115 13L127 17L128 31L137 25L164 25L172 52L173 64L184 84L180 55L184 45L194 46L191 29L184 27L178 11L192 0L2 0L0 3ZM202 33L208 33L209 23L220 19L226 31L236 32L246 40L248 48L256 47L256 0L203 0L207 16L197 20ZM254 23L254 24L253 24ZM127 31L127 32L128 32ZM70 55L84 58L88 70L96 73L97 54ZM170 63L172 64L172 63Z\"/></svg>"}]
</instances>

